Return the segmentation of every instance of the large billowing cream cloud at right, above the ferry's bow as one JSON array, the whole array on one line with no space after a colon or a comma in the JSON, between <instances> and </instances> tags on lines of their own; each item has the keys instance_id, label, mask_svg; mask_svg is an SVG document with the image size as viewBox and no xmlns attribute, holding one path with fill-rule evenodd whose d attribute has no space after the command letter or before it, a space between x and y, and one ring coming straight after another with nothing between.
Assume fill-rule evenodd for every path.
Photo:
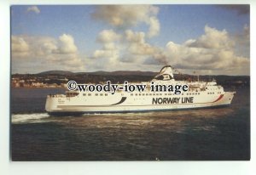
<instances>
[{"instance_id":1,"label":"large billowing cream cloud at right, above the ferry's bow","mask_svg":"<svg viewBox=\"0 0 256 175\"><path fill-rule=\"evenodd\" d=\"M171 65L183 70L203 70L223 74L249 74L250 61L235 52L236 42L227 31L206 25L205 34L183 44L168 42L166 58Z\"/></svg>"}]
</instances>

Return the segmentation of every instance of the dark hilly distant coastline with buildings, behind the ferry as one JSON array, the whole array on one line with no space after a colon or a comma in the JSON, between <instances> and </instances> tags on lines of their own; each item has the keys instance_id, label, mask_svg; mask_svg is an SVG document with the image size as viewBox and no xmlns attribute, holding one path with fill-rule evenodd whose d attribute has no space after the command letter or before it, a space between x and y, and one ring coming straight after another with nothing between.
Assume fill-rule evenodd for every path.
<instances>
[{"instance_id":1,"label":"dark hilly distant coastline with buildings, behind the ferry","mask_svg":"<svg viewBox=\"0 0 256 175\"><path fill-rule=\"evenodd\" d=\"M70 71L45 71L38 74L13 74L11 75L12 88L66 88L70 80L78 83L112 83L148 82L157 73L153 71L96 71L96 72L70 72ZM209 76L174 74L177 81L211 82L215 79L218 84L227 88L250 87L250 76Z\"/></svg>"}]
</instances>

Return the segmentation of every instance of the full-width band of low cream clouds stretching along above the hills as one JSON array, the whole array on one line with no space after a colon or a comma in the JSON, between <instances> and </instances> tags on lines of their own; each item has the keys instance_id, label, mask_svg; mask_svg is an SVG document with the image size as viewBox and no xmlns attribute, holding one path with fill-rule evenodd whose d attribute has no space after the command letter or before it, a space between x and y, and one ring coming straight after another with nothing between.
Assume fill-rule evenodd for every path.
<instances>
[{"instance_id":1,"label":"full-width band of low cream clouds stretching along above the hills","mask_svg":"<svg viewBox=\"0 0 256 175\"><path fill-rule=\"evenodd\" d=\"M102 48L96 49L90 57L81 57L69 34L57 38L12 36L12 71L24 72L32 67L35 72L84 71L86 63L90 71L95 71L92 68L114 71L122 67L132 71L144 68L156 71L161 65L173 65L183 73L249 75L249 31L250 27L244 25L240 34L230 36L228 31L206 25L201 37L183 43L170 41L166 47L159 48L148 42L150 38L143 31L103 30L96 37Z\"/></svg>"}]
</instances>

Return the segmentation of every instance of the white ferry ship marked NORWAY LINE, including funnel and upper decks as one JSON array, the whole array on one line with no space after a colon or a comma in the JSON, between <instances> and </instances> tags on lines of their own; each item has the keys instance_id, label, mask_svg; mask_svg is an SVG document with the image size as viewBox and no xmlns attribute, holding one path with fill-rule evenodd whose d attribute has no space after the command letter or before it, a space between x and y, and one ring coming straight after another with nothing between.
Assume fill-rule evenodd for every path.
<instances>
[{"instance_id":1,"label":"white ferry ship marked NORWAY LINE, including funnel and upper decks","mask_svg":"<svg viewBox=\"0 0 256 175\"><path fill-rule=\"evenodd\" d=\"M82 115L84 113L145 112L158 110L186 110L209 108L231 104L236 92L224 92L224 88L212 82L176 81L171 65L164 66L151 82L159 85L187 84L189 90L175 94L173 92L116 93L67 91L66 94L47 95L45 110L49 115Z\"/></svg>"}]
</instances>

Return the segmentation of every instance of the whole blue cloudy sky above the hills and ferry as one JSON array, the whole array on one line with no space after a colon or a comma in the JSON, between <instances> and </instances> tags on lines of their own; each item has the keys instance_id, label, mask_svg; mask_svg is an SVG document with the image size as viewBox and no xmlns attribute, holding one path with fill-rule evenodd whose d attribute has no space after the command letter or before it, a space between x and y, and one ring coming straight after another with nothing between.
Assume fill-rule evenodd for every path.
<instances>
[{"instance_id":1,"label":"whole blue cloudy sky above the hills and ferry","mask_svg":"<svg viewBox=\"0 0 256 175\"><path fill-rule=\"evenodd\" d=\"M250 74L249 5L14 5L12 73Z\"/></svg>"}]
</instances>

